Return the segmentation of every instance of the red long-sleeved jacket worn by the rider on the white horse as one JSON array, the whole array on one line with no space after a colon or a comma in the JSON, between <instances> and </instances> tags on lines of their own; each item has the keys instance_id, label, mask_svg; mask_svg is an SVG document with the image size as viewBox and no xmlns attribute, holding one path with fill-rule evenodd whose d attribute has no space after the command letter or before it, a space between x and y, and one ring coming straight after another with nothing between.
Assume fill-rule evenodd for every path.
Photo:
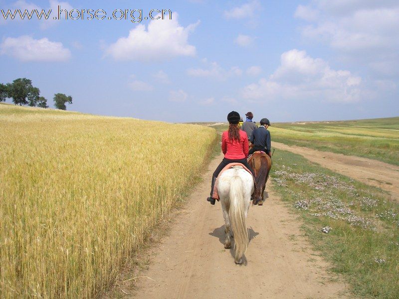
<instances>
[{"instance_id":1,"label":"red long-sleeved jacket worn by the rider on the white horse","mask_svg":"<svg viewBox=\"0 0 399 299\"><path fill-rule=\"evenodd\" d=\"M224 153L226 159L238 160L248 156L248 136L242 130L239 130L238 132L240 134L239 142L231 142L228 139L228 131L224 131L221 136L221 151Z\"/></svg>"}]
</instances>

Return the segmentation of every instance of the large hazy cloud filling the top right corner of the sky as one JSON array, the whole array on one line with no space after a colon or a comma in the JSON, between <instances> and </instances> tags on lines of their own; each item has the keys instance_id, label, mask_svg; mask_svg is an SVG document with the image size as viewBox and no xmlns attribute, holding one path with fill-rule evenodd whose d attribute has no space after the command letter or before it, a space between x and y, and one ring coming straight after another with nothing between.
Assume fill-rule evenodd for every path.
<instances>
[{"instance_id":1,"label":"large hazy cloud filling the top right corner of the sky","mask_svg":"<svg viewBox=\"0 0 399 299\"><path fill-rule=\"evenodd\" d=\"M304 38L329 45L342 60L369 68L371 77L394 76L399 69L397 0L314 0L295 16L307 22ZM390 71L382 66L390 66Z\"/></svg>"}]
</instances>

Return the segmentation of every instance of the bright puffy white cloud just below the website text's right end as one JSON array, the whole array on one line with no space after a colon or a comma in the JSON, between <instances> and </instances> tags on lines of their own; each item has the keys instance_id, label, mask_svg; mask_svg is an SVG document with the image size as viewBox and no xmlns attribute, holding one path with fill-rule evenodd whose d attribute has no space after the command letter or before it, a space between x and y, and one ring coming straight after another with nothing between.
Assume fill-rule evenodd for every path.
<instances>
[{"instance_id":1,"label":"bright puffy white cloud just below the website text's right end","mask_svg":"<svg viewBox=\"0 0 399 299\"><path fill-rule=\"evenodd\" d=\"M105 51L106 56L116 60L154 61L170 59L176 56L194 56L196 47L188 43L195 24L183 27L179 25L178 13L172 13L172 19L152 20L148 28L143 24L129 31L127 37L120 37Z\"/></svg>"}]
</instances>

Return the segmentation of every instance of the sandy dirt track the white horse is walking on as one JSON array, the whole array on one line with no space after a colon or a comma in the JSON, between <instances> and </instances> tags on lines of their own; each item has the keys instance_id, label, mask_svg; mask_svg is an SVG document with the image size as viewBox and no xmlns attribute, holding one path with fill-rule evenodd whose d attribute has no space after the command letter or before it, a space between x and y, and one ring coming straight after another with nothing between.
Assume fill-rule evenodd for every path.
<instances>
[{"instance_id":1,"label":"sandy dirt track the white horse is walking on","mask_svg":"<svg viewBox=\"0 0 399 299\"><path fill-rule=\"evenodd\" d=\"M251 206L247 265L235 265L225 250L220 203L205 198L214 159L180 210L170 235L150 252L149 270L138 274L137 289L120 285L124 298L347 298L346 286L326 272L328 264L310 249L301 222L273 192L263 206ZM269 184L269 183L268 183ZM270 188L267 188L270 190ZM136 288L135 287L135 288Z\"/></svg>"}]
</instances>

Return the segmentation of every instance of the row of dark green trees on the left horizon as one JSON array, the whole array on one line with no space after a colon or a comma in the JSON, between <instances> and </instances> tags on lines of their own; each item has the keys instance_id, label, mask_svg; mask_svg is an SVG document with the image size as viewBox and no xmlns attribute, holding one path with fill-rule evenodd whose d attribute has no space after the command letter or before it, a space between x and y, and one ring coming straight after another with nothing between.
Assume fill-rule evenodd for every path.
<instances>
[{"instance_id":1,"label":"row of dark green trees on the left horizon","mask_svg":"<svg viewBox=\"0 0 399 299\"><path fill-rule=\"evenodd\" d=\"M41 97L40 90L26 78L18 78L7 84L0 83L0 102L4 102L7 98L19 106L48 108L47 99ZM72 97L61 93L54 94L53 100L55 108L61 110L66 110L66 103L72 104Z\"/></svg>"}]
</instances>

